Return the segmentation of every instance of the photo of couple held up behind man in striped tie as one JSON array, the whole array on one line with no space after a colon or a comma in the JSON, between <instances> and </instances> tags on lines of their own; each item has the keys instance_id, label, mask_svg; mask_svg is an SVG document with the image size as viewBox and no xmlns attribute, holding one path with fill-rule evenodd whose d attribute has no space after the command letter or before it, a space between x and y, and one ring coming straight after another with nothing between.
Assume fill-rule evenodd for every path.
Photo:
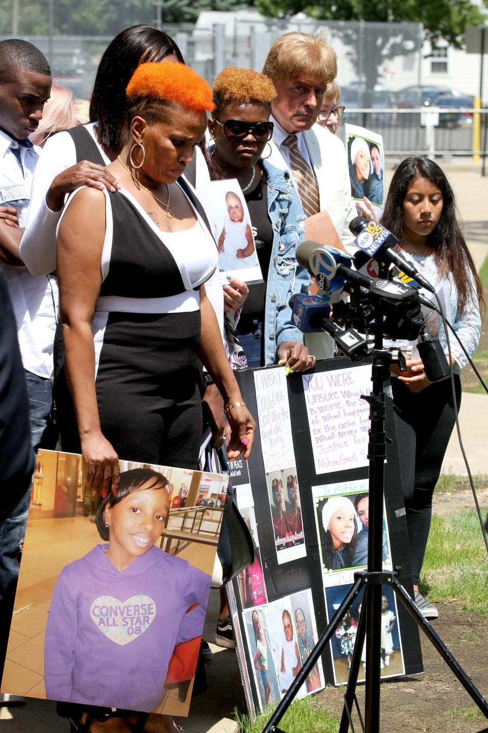
<instances>
[{"instance_id":1,"label":"photo of couple held up behind man in striped tie","mask_svg":"<svg viewBox=\"0 0 488 733\"><path fill-rule=\"evenodd\" d=\"M345 137L351 195L356 201L366 196L380 219L386 198L383 136L346 122Z\"/></svg>"}]
</instances>

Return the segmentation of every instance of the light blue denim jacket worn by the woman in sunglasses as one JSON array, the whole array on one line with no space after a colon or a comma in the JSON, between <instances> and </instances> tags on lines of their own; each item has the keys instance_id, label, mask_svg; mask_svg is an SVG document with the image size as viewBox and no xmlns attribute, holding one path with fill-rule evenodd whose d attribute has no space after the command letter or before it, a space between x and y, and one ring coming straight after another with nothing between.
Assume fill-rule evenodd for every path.
<instances>
[{"instance_id":1,"label":"light blue denim jacket worn by the woman in sunglasses","mask_svg":"<svg viewBox=\"0 0 488 733\"><path fill-rule=\"evenodd\" d=\"M307 293L310 276L296 262L296 248L304 241L304 210L290 173L261 160L268 180L268 214L273 227L273 247L269 262L264 309L264 361L274 364L279 345L285 341L304 342L304 334L293 323L290 297Z\"/></svg>"}]
</instances>

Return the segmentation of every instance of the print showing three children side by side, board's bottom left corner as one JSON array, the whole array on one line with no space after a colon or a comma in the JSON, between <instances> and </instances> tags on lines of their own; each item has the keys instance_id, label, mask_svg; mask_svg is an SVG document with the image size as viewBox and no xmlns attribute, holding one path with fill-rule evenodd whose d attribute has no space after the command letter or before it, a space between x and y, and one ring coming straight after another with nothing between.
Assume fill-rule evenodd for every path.
<instances>
[{"instance_id":1,"label":"print showing three children side by side, board's bottom left corner","mask_svg":"<svg viewBox=\"0 0 488 733\"><path fill-rule=\"evenodd\" d=\"M317 642L312 593L280 598L246 612L244 619L260 699L271 704L285 695ZM319 660L297 696L316 692L324 684Z\"/></svg>"}]
</instances>

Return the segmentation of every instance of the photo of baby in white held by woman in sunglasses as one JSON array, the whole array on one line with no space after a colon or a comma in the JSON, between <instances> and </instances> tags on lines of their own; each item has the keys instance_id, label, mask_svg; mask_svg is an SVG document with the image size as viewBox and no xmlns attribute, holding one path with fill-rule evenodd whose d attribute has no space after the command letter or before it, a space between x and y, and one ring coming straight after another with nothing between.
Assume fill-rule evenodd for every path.
<instances>
[{"instance_id":1,"label":"photo of baby in white held by woman in sunglasses","mask_svg":"<svg viewBox=\"0 0 488 733\"><path fill-rule=\"evenodd\" d=\"M247 205L237 180L211 183L219 270L247 283L262 282Z\"/></svg>"}]
</instances>

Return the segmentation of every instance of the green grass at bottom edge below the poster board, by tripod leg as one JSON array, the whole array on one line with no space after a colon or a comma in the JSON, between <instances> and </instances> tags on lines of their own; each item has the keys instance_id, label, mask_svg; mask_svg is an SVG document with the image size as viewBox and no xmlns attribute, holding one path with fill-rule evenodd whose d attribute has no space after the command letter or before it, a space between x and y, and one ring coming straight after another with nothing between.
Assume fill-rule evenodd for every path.
<instances>
[{"instance_id":1,"label":"green grass at bottom edge below the poster board, by tripod leg","mask_svg":"<svg viewBox=\"0 0 488 733\"><path fill-rule=\"evenodd\" d=\"M269 721L271 709L261 712L254 722L250 715L241 715L237 710L234 717L239 724L239 733L261 733ZM318 707L309 697L294 700L283 715L279 728L287 733L337 733L339 720L323 707Z\"/></svg>"}]
</instances>

